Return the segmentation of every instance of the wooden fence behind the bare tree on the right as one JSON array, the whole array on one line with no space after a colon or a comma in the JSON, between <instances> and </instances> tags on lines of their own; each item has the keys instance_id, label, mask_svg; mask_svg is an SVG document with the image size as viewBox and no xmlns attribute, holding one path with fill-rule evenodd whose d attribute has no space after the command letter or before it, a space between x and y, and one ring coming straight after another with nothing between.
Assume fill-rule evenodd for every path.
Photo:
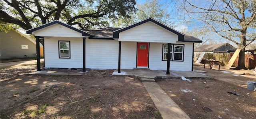
<instances>
[{"instance_id":1,"label":"wooden fence behind the bare tree on the right","mask_svg":"<svg viewBox=\"0 0 256 119\"><path fill-rule=\"evenodd\" d=\"M198 59L201 53L194 53L194 61ZM220 61L221 65L225 66L228 64L228 61L233 56L233 53L205 53L203 59L214 59ZM203 63L201 61L201 63ZM244 64L246 68L254 69L256 66L256 54L245 54L244 56ZM233 67L237 67L238 65L238 57L236 58L235 62L233 63Z\"/></svg>"}]
</instances>

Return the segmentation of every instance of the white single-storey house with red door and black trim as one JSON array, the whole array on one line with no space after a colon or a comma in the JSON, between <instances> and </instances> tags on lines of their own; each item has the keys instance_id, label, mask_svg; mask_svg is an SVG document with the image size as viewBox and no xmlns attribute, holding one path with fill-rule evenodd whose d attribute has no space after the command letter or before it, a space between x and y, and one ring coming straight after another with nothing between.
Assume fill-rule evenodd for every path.
<instances>
[{"instance_id":1,"label":"white single-storey house with red door and black trim","mask_svg":"<svg viewBox=\"0 0 256 119\"><path fill-rule=\"evenodd\" d=\"M82 68L84 72L86 68L118 69L119 73L133 68L166 70L167 74L191 71L194 43L202 42L152 18L124 28L85 31L55 20L27 33L44 38L45 68Z\"/></svg>"}]
</instances>

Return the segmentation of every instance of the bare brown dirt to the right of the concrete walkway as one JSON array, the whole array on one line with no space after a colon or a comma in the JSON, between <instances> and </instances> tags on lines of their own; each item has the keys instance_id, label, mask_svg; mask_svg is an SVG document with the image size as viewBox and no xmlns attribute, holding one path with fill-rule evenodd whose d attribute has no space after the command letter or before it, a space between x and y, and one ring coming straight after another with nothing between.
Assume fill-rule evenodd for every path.
<instances>
[{"instance_id":1,"label":"bare brown dirt to the right of the concrete walkway","mask_svg":"<svg viewBox=\"0 0 256 119\"><path fill-rule=\"evenodd\" d=\"M203 65L194 65L194 69L204 70L206 73L203 74L213 78L192 78L192 82L157 79L157 84L190 118L256 118L256 92L247 90L246 87L246 81L256 82L256 76L240 75L243 72L253 72L252 70L226 70L224 67L209 70ZM236 92L240 96L228 92Z\"/></svg>"}]
</instances>

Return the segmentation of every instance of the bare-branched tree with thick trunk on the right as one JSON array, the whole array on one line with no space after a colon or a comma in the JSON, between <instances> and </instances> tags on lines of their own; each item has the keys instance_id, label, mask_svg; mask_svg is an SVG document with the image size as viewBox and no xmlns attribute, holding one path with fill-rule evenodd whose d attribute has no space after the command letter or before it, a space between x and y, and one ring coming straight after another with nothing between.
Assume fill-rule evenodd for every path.
<instances>
[{"instance_id":1,"label":"bare-branched tree with thick trunk on the right","mask_svg":"<svg viewBox=\"0 0 256 119\"><path fill-rule=\"evenodd\" d=\"M245 47L256 39L256 0L183 0L182 8L195 25L232 41L241 49L237 69L245 68Z\"/></svg>"}]
</instances>

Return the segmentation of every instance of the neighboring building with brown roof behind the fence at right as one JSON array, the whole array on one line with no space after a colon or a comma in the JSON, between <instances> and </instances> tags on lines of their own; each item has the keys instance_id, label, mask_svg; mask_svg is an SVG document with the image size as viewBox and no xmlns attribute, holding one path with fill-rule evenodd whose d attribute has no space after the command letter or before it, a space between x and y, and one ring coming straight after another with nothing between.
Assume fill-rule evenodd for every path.
<instances>
[{"instance_id":1,"label":"neighboring building with brown roof behind the fence at right","mask_svg":"<svg viewBox=\"0 0 256 119\"><path fill-rule=\"evenodd\" d=\"M228 51L236 51L236 48L229 43L222 43L201 45L194 49L194 52L200 53L227 53Z\"/></svg>"}]
</instances>

